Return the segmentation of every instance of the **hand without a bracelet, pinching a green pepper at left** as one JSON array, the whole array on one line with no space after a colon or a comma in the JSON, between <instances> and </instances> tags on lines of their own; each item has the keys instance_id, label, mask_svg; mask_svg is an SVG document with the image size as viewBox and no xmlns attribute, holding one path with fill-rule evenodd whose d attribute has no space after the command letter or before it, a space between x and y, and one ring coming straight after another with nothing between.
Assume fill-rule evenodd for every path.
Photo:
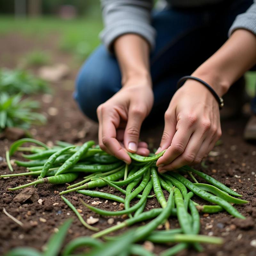
<instances>
[{"instance_id":1,"label":"hand without a bracelet, pinching a green pepper at left","mask_svg":"<svg viewBox=\"0 0 256 256\"><path fill-rule=\"evenodd\" d=\"M147 143L138 141L141 124L153 107L150 85L151 82L138 82L138 79L127 81L120 91L97 108L100 148L127 164L131 163L131 158L125 149L143 156L149 154Z\"/></svg>"}]
</instances>

